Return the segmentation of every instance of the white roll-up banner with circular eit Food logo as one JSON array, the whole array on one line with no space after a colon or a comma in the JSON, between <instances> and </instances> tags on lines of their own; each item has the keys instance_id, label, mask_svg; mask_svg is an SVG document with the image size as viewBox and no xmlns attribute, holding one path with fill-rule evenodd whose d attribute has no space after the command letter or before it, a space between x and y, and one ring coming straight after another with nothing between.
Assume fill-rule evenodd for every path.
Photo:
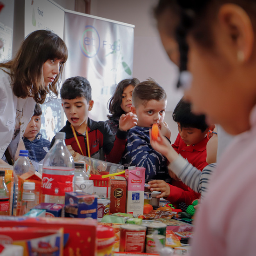
<instances>
[{"instance_id":1,"label":"white roll-up banner with circular eit Food logo","mask_svg":"<svg viewBox=\"0 0 256 256\"><path fill-rule=\"evenodd\" d=\"M107 103L116 85L132 76L134 26L66 12L64 41L68 49L64 78L86 77L94 100L89 117L107 120Z\"/></svg>"}]
</instances>

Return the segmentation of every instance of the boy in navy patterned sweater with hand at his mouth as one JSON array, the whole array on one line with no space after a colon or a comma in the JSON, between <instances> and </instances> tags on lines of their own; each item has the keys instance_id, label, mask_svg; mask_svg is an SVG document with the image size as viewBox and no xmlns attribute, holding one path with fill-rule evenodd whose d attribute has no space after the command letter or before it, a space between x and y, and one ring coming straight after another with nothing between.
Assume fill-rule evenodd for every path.
<instances>
[{"instance_id":1,"label":"boy in navy patterned sweater with hand at his mouth","mask_svg":"<svg viewBox=\"0 0 256 256\"><path fill-rule=\"evenodd\" d=\"M128 141L121 159L124 168L145 167L145 182L162 179L170 182L167 160L150 145L149 129L157 123L162 135L170 139L171 132L163 122L167 105L164 89L153 79L137 84L132 93L132 113L137 115L138 124L130 129Z\"/></svg>"}]
</instances>

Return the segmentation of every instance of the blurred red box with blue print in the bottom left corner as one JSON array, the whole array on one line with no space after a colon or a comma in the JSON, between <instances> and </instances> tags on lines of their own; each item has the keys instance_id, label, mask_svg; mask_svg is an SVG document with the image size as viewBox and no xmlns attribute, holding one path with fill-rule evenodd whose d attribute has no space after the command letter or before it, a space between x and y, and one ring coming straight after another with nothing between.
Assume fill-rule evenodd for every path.
<instances>
[{"instance_id":1,"label":"blurred red box with blue print in the bottom left corner","mask_svg":"<svg viewBox=\"0 0 256 256\"><path fill-rule=\"evenodd\" d=\"M34 227L0 228L1 243L23 247L23 256L63 256L63 228L44 229Z\"/></svg>"}]
</instances>

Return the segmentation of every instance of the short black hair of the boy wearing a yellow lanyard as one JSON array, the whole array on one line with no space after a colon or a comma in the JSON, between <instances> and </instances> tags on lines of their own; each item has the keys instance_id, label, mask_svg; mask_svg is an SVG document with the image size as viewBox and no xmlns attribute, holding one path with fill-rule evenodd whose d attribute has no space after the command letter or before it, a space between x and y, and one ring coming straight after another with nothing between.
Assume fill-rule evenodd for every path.
<instances>
[{"instance_id":1,"label":"short black hair of the boy wearing a yellow lanyard","mask_svg":"<svg viewBox=\"0 0 256 256\"><path fill-rule=\"evenodd\" d=\"M87 102L92 99L92 88L87 78L74 76L66 79L61 87L61 99L74 100L85 97Z\"/></svg>"}]
</instances>

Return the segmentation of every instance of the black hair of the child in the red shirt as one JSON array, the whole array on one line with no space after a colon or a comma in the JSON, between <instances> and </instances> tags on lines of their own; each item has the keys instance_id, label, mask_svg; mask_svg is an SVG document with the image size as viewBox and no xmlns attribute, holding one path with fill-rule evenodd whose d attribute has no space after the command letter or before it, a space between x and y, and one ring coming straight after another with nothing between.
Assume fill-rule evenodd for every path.
<instances>
[{"instance_id":1,"label":"black hair of the child in the red shirt","mask_svg":"<svg viewBox=\"0 0 256 256\"><path fill-rule=\"evenodd\" d=\"M182 98L176 105L173 120L179 122L181 128L197 128L204 132L208 125L205 122L205 115L195 115L191 112L191 104Z\"/></svg>"}]
</instances>

